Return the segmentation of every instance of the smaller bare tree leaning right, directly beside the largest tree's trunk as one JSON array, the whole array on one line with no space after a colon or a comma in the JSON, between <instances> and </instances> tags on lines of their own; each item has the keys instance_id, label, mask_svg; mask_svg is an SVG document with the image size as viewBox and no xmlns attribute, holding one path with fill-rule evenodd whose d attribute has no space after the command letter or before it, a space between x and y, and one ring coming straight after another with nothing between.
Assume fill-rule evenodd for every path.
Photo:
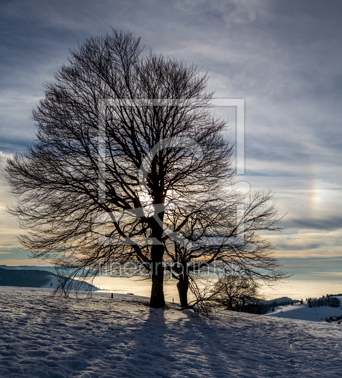
<instances>
[{"instance_id":1,"label":"smaller bare tree leaning right, directly beside the largest tree's trunk","mask_svg":"<svg viewBox=\"0 0 342 378\"><path fill-rule=\"evenodd\" d=\"M170 261L166 270L178 281L181 307L188 306L191 280L208 277L208 270L211 276L215 269L235 270L251 283L262 280L268 285L288 277L274 244L260 235L260 231L282 232L281 218L270 191L253 192L246 200L233 189L220 189L207 198L167 209L165 224L183 235L165 244Z\"/></svg>"}]
</instances>

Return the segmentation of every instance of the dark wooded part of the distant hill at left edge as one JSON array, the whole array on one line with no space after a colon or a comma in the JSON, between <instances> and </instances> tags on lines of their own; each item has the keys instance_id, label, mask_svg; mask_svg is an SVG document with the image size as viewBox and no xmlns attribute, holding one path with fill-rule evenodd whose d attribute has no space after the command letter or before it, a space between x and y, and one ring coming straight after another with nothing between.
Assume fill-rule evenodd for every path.
<instances>
[{"instance_id":1,"label":"dark wooded part of the distant hill at left edge","mask_svg":"<svg viewBox=\"0 0 342 378\"><path fill-rule=\"evenodd\" d=\"M45 270L11 270L0 268L0 286L41 287L48 283L52 273Z\"/></svg>"}]
</instances>

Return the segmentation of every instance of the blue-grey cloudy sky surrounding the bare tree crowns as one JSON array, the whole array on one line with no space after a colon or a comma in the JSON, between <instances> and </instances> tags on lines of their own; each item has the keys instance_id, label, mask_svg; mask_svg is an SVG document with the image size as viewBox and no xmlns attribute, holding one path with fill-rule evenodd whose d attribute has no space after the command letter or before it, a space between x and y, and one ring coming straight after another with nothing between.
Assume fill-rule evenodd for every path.
<instances>
[{"instance_id":1,"label":"blue-grey cloudy sky surrounding the bare tree crowns","mask_svg":"<svg viewBox=\"0 0 342 378\"><path fill-rule=\"evenodd\" d=\"M216 98L245 99L245 174L271 188L288 226L268 236L294 277L342 280L342 3L302 0L6 1L0 12L0 160L34 138L29 119L68 48L111 26L141 37L143 53L208 70ZM227 137L236 139L236 110ZM243 177L242 177L243 176ZM15 203L3 177L1 208ZM0 264L38 265L0 214ZM42 263L46 265L46 263Z\"/></svg>"}]
</instances>

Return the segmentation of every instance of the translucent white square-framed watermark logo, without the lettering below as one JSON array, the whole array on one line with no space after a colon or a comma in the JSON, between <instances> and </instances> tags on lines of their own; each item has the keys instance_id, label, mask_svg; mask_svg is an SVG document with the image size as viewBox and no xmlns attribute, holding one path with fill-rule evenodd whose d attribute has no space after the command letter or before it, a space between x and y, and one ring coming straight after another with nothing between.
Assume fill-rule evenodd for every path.
<instances>
[{"instance_id":1,"label":"translucent white square-framed watermark logo, without the lettering below","mask_svg":"<svg viewBox=\"0 0 342 378\"><path fill-rule=\"evenodd\" d=\"M106 112L108 108L113 107L136 107L141 106L191 106L196 103L196 99L116 99L112 101L103 100L99 105L99 128L98 128L98 201L99 203L106 202ZM244 133L245 133L245 101L244 99L216 99L213 104L215 107L227 107L234 106L237 109L237 133L236 133L236 173L237 177L245 173L245 148L244 148ZM181 148L188 149L191 154L198 160L203 156L201 147L196 141L191 138L165 138L160 140L154 145L154 147L146 154L141 165L139 172L139 185L142 193L147 195L148 193L148 172L153 162L154 156L165 148ZM240 194L245 195L250 191L250 185L246 181L238 181L234 183L234 187L240 192ZM203 199L202 199L203 200ZM180 202L191 203L189 198L183 198ZM196 201L199 201L197 198ZM173 206L177 206L177 202L173 201ZM163 234L168 235L169 239L176 241L184 248L191 247L191 242L183 237L179 232L173 232L169 228L165 228L162 220L158 216L161 212L164 212L169 204L153 204L153 211L151 214L156 222L163 229ZM114 223L120 221L129 221L134 218L145 217L146 208L134 208L126 209L120 211L100 211L93 214L93 222L98 224ZM243 216L245 212L245 205L238 204L237 209L237 237L231 238L231 243L239 244L243 243ZM225 243L227 241L225 240ZM107 237L102 235L99 238L99 244L101 245L150 245L150 244L161 244L159 240L153 237Z\"/></svg>"}]
</instances>

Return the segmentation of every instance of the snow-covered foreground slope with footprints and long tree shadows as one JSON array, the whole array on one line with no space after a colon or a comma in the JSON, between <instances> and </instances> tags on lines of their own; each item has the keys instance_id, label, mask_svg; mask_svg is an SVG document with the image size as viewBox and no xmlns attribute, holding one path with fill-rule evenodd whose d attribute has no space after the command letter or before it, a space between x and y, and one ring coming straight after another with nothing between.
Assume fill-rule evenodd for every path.
<instances>
[{"instance_id":1,"label":"snow-covered foreground slope with footprints and long tree shadows","mask_svg":"<svg viewBox=\"0 0 342 378\"><path fill-rule=\"evenodd\" d=\"M0 288L0 376L342 376L340 325L233 311L197 322L176 304L150 309L146 297L52 291Z\"/></svg>"}]
</instances>

